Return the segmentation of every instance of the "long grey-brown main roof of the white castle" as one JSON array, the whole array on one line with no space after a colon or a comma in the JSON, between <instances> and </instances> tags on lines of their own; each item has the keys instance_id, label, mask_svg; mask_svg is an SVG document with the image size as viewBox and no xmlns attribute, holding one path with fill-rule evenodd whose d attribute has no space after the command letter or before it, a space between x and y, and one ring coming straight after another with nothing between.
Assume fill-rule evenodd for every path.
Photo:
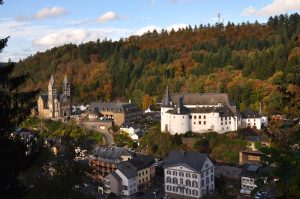
<instances>
[{"instance_id":1,"label":"long grey-brown main roof of the white castle","mask_svg":"<svg viewBox=\"0 0 300 199\"><path fill-rule=\"evenodd\" d=\"M184 105L218 105L230 106L227 93L172 93L170 99L172 104L178 104L179 98L183 97ZM166 96L162 99L165 102Z\"/></svg>"}]
</instances>

